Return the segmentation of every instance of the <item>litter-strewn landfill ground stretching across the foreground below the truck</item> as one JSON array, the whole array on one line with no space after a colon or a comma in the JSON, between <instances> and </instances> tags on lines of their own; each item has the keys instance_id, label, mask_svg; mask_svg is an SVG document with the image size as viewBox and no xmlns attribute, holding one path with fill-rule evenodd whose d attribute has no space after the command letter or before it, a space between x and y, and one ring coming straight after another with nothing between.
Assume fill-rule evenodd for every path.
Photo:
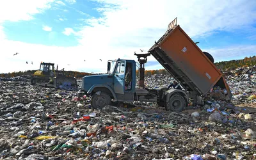
<instances>
[{"instance_id":1,"label":"litter-strewn landfill ground stretching across the foreground below the truck","mask_svg":"<svg viewBox=\"0 0 256 160\"><path fill-rule=\"evenodd\" d=\"M145 80L148 87L160 88L172 77ZM248 89L234 90L236 83L243 81L228 79L232 92ZM256 158L255 113L211 93L204 106L182 113L151 102L100 111L92 109L90 97L79 99L74 91L31 86L29 81L0 84L1 159Z\"/></svg>"}]
</instances>

